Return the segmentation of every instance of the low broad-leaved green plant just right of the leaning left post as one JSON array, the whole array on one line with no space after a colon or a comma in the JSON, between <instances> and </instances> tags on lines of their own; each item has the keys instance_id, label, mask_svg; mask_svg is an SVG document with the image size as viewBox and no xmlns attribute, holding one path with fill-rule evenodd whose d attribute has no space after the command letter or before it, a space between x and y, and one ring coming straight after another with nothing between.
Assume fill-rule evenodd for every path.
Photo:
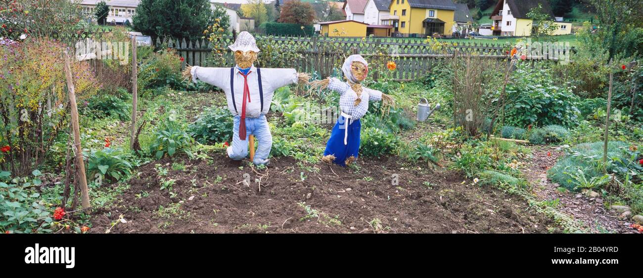
<instances>
[{"instance_id":1,"label":"low broad-leaved green plant just right of the leaning left post","mask_svg":"<svg viewBox=\"0 0 643 278\"><path fill-rule=\"evenodd\" d=\"M128 155L122 149L104 148L85 153L87 157L87 173L89 178L95 178L100 173L102 177L120 180L131 173L132 164L127 161Z\"/></svg>"}]
</instances>

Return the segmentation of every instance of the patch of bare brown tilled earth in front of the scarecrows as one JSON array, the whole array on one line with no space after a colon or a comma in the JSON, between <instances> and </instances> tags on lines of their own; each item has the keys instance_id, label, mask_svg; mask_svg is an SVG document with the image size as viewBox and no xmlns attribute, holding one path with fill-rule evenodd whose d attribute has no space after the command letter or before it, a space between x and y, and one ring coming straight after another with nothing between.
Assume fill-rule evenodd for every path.
<instances>
[{"instance_id":1,"label":"patch of bare brown tilled earth in front of the scarecrows","mask_svg":"<svg viewBox=\"0 0 643 278\"><path fill-rule=\"evenodd\" d=\"M209 162L179 157L141 166L114 205L92 214L91 232L534 233L556 228L520 198L394 157L360 159L358 168L302 165L287 157L272 159L264 169L231 161L223 151L210 157ZM172 170L177 163L185 169ZM159 175L159 167L168 169L167 175ZM168 180L174 180L172 195L160 189ZM121 214L125 222L118 221Z\"/></svg>"}]
</instances>

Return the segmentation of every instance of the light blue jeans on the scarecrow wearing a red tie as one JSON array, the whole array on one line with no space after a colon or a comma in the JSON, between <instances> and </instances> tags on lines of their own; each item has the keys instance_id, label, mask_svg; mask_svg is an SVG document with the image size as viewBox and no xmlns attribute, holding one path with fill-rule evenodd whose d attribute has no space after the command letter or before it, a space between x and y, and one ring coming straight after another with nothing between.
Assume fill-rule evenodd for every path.
<instances>
[{"instance_id":1,"label":"light blue jeans on the scarecrow wearing a red tie","mask_svg":"<svg viewBox=\"0 0 643 278\"><path fill-rule=\"evenodd\" d=\"M248 137L252 134L255 135L255 138L259 141L257 152L255 152L255 157L253 157L253 163L265 164L268 155L270 155L270 149L273 147L273 135L270 134L270 127L268 126L266 116L261 115L255 118L246 117L246 139L244 140L239 138L240 121L241 117L235 116L232 146L228 147L228 157L235 161L246 158L246 156L248 156Z\"/></svg>"}]
</instances>

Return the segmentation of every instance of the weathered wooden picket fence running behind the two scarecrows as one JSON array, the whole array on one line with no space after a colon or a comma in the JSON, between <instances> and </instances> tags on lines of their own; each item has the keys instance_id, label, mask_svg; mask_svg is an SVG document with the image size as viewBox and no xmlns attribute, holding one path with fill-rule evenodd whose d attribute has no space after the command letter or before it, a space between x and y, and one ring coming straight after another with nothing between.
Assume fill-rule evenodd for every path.
<instances>
[{"instance_id":1,"label":"weathered wooden picket fence running behind the two scarecrows","mask_svg":"<svg viewBox=\"0 0 643 278\"><path fill-rule=\"evenodd\" d=\"M258 37L259 39L265 39ZM431 70L441 64L441 59L444 58L444 53L431 49L431 46L421 39L405 39L399 38L329 38L329 37L270 37L274 44L297 44L298 51L301 57L296 59L291 67L300 72L316 73L320 77L330 76L336 73L338 65L336 61L345 56L352 54L360 54L365 56L367 60L369 57L375 56L377 51L381 53L385 49L388 53L388 59L397 64L397 70L394 71L392 78L395 80L415 80L422 78L431 73ZM234 64L233 53L227 49L225 56L225 65L212 65L208 62L208 56L212 51L212 44L207 40L186 41L177 39L160 39L153 40L154 45L158 48L174 48L177 53L184 58L182 67L185 65L199 65L206 67L213 66L230 66ZM232 37L224 38L222 44L228 46L233 44ZM341 49L341 53L329 53L323 51L325 44L335 44L337 49ZM493 44L485 42L457 42L452 44L453 49L457 49L458 53L469 55L484 55L489 58L505 59L507 58L507 50L511 46L504 44ZM552 49L552 51L559 51L559 49ZM563 53L569 53L570 49L560 49ZM543 60L554 60L557 58L552 57L548 53L543 53L541 56L529 56L532 62ZM261 65L258 65L261 66Z\"/></svg>"}]
</instances>

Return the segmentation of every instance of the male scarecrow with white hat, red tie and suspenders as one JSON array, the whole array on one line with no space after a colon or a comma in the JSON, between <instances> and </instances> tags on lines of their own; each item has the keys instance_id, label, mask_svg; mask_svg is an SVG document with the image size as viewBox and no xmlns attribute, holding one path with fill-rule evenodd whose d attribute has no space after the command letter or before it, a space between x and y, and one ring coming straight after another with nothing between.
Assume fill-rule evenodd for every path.
<instances>
[{"instance_id":1,"label":"male scarecrow with white hat, red tie and suspenders","mask_svg":"<svg viewBox=\"0 0 643 278\"><path fill-rule=\"evenodd\" d=\"M235 161L248 155L248 138L254 135L259 146L253 163L267 164L273 137L266 121L276 89L291 83L308 83L309 74L295 69L260 69L253 65L259 49L255 37L247 31L239 33L235 43L228 46L235 54L235 67L187 67L183 72L192 81L201 80L221 88L226 93L228 109L234 115L232 146L228 157ZM254 146L251 146L253 148Z\"/></svg>"}]
</instances>

